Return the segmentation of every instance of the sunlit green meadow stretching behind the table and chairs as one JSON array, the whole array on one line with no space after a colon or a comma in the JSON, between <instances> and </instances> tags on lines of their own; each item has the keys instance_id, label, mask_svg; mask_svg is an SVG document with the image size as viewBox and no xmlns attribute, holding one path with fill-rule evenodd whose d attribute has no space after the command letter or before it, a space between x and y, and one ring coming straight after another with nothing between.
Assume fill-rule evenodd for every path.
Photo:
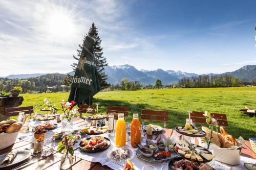
<instances>
[{"instance_id":1,"label":"sunlit green meadow stretching behind the table and chairs","mask_svg":"<svg viewBox=\"0 0 256 170\"><path fill-rule=\"evenodd\" d=\"M24 96L22 106L31 106L45 98L55 103L61 99L67 100L69 93L21 95ZM102 114L106 113L107 106L129 106L129 122L132 120L132 113L140 113L141 109L167 110L167 128L184 126L185 119L188 118L187 110L225 113L229 124L227 131L230 134L236 138L243 136L246 140L256 137L256 117L249 117L238 111L245 106L256 108L256 87L108 91L96 94L95 102L100 103L99 113ZM163 123L156 124L163 126Z\"/></svg>"}]
</instances>

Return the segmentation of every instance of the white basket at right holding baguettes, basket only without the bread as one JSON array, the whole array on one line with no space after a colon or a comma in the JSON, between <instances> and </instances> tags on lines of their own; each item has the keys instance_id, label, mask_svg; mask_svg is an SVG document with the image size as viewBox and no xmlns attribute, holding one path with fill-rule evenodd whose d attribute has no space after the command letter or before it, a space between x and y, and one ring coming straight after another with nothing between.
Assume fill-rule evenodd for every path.
<instances>
[{"instance_id":1,"label":"white basket at right holding baguettes, basket only without the bread","mask_svg":"<svg viewBox=\"0 0 256 170\"><path fill-rule=\"evenodd\" d=\"M240 150L230 150L228 148L220 148L215 144L211 145L213 153L216 157L215 160L229 165L240 164Z\"/></svg>"}]
</instances>

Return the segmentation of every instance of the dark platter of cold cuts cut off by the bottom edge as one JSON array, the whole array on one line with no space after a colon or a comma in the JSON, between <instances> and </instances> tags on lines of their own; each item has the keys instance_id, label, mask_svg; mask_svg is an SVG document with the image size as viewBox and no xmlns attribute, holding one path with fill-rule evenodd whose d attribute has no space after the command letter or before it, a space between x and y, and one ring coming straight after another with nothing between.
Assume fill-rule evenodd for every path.
<instances>
[{"instance_id":1,"label":"dark platter of cold cuts cut off by the bottom edge","mask_svg":"<svg viewBox=\"0 0 256 170\"><path fill-rule=\"evenodd\" d=\"M168 163L169 170L180 170L180 169L187 169L187 170L214 170L210 165L206 163L197 163L190 160L183 159L181 157L174 158L169 161Z\"/></svg>"}]
</instances>

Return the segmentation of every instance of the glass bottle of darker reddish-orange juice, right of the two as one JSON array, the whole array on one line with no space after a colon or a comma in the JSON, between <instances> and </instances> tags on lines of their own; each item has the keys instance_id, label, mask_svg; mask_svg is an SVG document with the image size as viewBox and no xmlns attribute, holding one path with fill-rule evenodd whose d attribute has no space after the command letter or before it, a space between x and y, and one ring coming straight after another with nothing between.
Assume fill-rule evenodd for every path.
<instances>
[{"instance_id":1,"label":"glass bottle of darker reddish-orange juice, right of the two","mask_svg":"<svg viewBox=\"0 0 256 170\"><path fill-rule=\"evenodd\" d=\"M131 123L131 145L136 148L136 144L141 144L141 126L138 113L133 114L133 121Z\"/></svg>"}]
</instances>

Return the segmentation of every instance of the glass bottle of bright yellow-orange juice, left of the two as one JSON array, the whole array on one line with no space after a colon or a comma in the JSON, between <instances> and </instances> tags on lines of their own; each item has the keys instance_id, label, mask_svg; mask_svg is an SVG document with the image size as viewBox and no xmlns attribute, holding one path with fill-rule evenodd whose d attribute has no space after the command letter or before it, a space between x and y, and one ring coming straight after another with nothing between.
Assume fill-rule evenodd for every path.
<instances>
[{"instance_id":1,"label":"glass bottle of bright yellow-orange juice, left of the two","mask_svg":"<svg viewBox=\"0 0 256 170\"><path fill-rule=\"evenodd\" d=\"M123 113L118 114L115 136L116 147L124 147L126 142L126 125L123 118Z\"/></svg>"}]
</instances>

